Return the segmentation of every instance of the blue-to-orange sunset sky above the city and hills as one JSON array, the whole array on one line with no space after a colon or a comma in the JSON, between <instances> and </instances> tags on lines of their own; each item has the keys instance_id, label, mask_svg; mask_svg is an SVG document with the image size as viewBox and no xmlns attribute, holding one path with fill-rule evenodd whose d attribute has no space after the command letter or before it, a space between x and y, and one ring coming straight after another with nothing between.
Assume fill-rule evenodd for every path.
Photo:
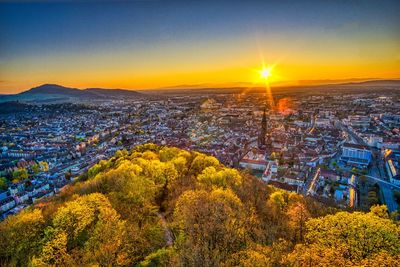
<instances>
[{"instance_id":1,"label":"blue-to-orange sunset sky above the city and hills","mask_svg":"<svg viewBox=\"0 0 400 267\"><path fill-rule=\"evenodd\" d=\"M0 94L400 78L400 1L0 2Z\"/></svg>"}]
</instances>

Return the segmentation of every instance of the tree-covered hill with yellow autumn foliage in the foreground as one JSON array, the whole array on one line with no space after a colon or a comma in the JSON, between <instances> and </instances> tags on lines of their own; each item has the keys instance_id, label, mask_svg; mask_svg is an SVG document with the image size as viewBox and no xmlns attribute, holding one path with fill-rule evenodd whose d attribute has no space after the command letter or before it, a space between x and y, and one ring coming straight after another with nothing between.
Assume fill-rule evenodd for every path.
<instances>
[{"instance_id":1,"label":"tree-covered hill with yellow autumn foliage in the foreground","mask_svg":"<svg viewBox=\"0 0 400 267\"><path fill-rule=\"evenodd\" d=\"M339 211L153 144L0 224L1 266L398 266L399 254L384 206Z\"/></svg>"}]
</instances>

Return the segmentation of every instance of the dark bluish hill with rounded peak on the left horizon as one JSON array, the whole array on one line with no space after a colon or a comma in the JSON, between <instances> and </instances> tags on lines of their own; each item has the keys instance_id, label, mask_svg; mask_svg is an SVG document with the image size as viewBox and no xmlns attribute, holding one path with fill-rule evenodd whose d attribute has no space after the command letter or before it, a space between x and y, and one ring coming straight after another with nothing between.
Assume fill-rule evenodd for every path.
<instances>
[{"instance_id":1,"label":"dark bluish hill with rounded peak on the left horizon","mask_svg":"<svg viewBox=\"0 0 400 267\"><path fill-rule=\"evenodd\" d=\"M142 93L123 89L88 88L81 90L57 84L43 84L19 94L0 95L0 103L10 101L27 103L87 102L142 97L145 97Z\"/></svg>"}]
</instances>

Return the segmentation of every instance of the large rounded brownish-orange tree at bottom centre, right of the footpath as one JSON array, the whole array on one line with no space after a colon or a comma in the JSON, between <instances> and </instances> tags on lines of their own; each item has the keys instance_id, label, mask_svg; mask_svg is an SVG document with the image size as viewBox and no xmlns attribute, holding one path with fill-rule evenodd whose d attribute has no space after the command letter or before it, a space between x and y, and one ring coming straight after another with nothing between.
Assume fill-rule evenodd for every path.
<instances>
[{"instance_id":1,"label":"large rounded brownish-orange tree at bottom centre, right of the footpath","mask_svg":"<svg viewBox=\"0 0 400 267\"><path fill-rule=\"evenodd\" d=\"M187 191L174 213L181 264L215 266L246 243L243 204L231 191Z\"/></svg>"}]
</instances>

